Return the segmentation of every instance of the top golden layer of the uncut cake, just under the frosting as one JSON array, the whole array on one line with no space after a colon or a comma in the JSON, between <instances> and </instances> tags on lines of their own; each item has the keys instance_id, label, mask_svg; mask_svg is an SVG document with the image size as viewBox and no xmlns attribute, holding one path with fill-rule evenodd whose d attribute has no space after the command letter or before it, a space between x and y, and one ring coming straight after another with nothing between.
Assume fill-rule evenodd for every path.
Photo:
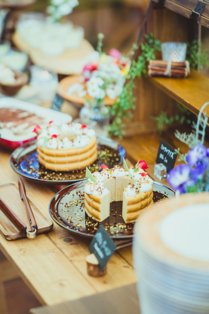
<instances>
[{"instance_id":1,"label":"top golden layer of the uncut cake, just under the frosting","mask_svg":"<svg viewBox=\"0 0 209 314\"><path fill-rule=\"evenodd\" d=\"M68 149L51 149L48 147L43 148L39 146L38 143L37 143L37 147L42 153L44 153L47 156L66 157L66 156L74 156L74 155L83 154L87 152L88 150L90 150L91 148L93 148L95 144L96 144L96 137L94 136L91 139L91 141L84 147L73 147L73 148L68 148Z\"/></svg>"}]
</instances>

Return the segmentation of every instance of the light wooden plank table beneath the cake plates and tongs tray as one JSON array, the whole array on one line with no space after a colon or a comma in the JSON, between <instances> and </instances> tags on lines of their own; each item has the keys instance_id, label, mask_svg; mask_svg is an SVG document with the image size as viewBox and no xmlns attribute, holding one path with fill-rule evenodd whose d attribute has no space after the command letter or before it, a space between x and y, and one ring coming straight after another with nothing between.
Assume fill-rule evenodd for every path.
<instances>
[{"instance_id":1,"label":"light wooden plank table beneath the cake plates and tongs tray","mask_svg":"<svg viewBox=\"0 0 209 314\"><path fill-rule=\"evenodd\" d=\"M153 170L160 138L158 134L147 134L120 141L133 164L139 158L146 160L154 180L157 180ZM174 136L171 138L167 134L164 139L178 147ZM18 175L9 165L10 154L0 149L0 184L18 180ZM55 191L45 184L23 181L28 197L49 216L48 204ZM0 250L16 267L41 304L49 306L136 283L131 246L114 253L107 265L107 275L93 278L86 271L89 245L89 239L71 235L56 223L52 231L33 240L7 241L0 235Z\"/></svg>"}]
</instances>

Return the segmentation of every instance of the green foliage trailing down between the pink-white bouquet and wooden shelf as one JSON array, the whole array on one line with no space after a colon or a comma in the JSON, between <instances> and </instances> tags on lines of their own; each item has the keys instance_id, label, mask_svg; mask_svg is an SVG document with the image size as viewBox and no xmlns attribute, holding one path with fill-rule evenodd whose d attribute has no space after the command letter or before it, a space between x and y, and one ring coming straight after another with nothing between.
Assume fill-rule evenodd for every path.
<instances>
[{"instance_id":1,"label":"green foliage trailing down between the pink-white bouquet and wooden shelf","mask_svg":"<svg viewBox=\"0 0 209 314\"><path fill-rule=\"evenodd\" d=\"M123 87L120 96L110 108L110 113L114 117L114 120L109 128L111 135L121 138L124 134L124 124L121 123L121 119L130 119L133 116L131 110L135 108L134 103L136 99L133 97L133 91L135 88L134 79L136 77L140 78L141 75L147 75L147 63L150 60L155 59L155 52L160 50L160 41L156 40L152 33L150 35L145 35L145 42L140 45L141 53L136 61L132 61L132 65L127 76L127 82Z\"/></svg>"}]
</instances>

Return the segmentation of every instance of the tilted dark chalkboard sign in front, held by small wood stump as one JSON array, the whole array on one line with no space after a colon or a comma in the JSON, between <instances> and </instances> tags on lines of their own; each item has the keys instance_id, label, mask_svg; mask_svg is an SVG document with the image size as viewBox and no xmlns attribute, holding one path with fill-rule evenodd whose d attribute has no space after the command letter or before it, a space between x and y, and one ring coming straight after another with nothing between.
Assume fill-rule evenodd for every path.
<instances>
[{"instance_id":1,"label":"tilted dark chalkboard sign in front, held by small wood stump","mask_svg":"<svg viewBox=\"0 0 209 314\"><path fill-rule=\"evenodd\" d=\"M93 253L99 262L99 270L102 271L116 249L115 242L111 239L101 225L94 235L89 251Z\"/></svg>"}]
</instances>

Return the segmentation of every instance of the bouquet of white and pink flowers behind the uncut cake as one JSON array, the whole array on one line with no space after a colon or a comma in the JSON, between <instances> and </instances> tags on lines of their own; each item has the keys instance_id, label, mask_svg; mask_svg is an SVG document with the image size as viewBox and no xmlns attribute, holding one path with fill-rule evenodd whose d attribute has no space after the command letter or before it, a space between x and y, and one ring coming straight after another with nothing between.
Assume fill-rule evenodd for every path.
<instances>
[{"instance_id":1,"label":"bouquet of white and pink flowers behind the uncut cake","mask_svg":"<svg viewBox=\"0 0 209 314\"><path fill-rule=\"evenodd\" d=\"M93 62L84 66L80 83L73 84L68 90L68 95L77 92L95 105L104 102L107 97L115 100L120 95L131 64L116 49L111 49L109 54L102 52L103 37L103 34L98 34L97 52Z\"/></svg>"}]
</instances>

